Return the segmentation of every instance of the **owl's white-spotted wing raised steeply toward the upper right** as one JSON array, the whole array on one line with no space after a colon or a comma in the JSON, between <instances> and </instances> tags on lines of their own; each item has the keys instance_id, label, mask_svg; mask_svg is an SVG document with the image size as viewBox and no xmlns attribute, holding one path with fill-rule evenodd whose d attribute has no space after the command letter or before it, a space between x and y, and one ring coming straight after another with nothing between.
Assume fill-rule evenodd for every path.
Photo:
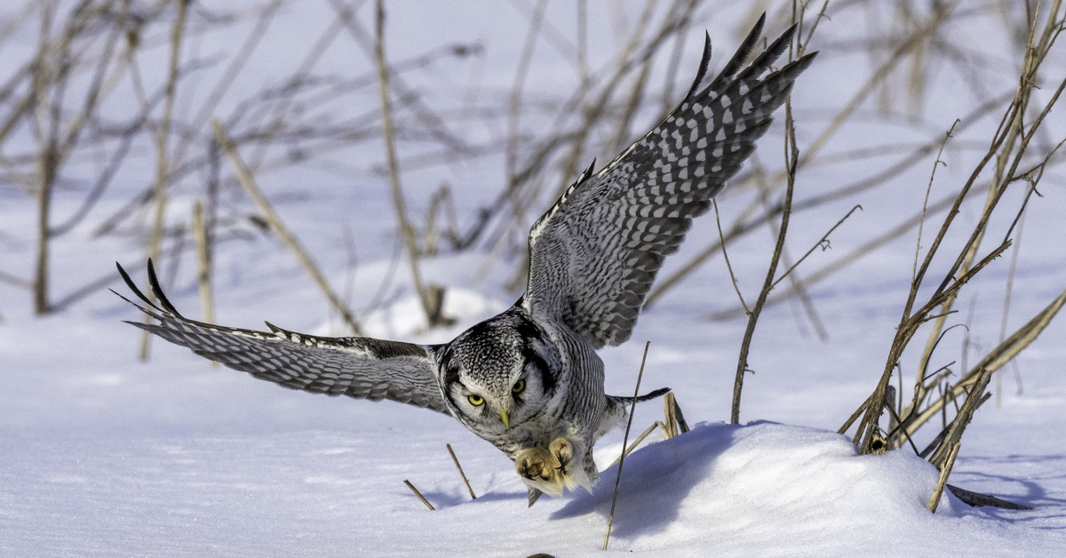
<instances>
[{"instance_id":1,"label":"owl's white-spotted wing raised steeply toward the upper right","mask_svg":"<svg viewBox=\"0 0 1066 558\"><path fill-rule=\"evenodd\" d=\"M788 48L793 26L745 67L764 20L705 84L708 36L681 105L611 164L595 174L593 166L585 170L537 220L522 302L530 314L562 319L597 348L629 339L663 259L740 170L814 58L770 70Z\"/></svg>"}]
</instances>

